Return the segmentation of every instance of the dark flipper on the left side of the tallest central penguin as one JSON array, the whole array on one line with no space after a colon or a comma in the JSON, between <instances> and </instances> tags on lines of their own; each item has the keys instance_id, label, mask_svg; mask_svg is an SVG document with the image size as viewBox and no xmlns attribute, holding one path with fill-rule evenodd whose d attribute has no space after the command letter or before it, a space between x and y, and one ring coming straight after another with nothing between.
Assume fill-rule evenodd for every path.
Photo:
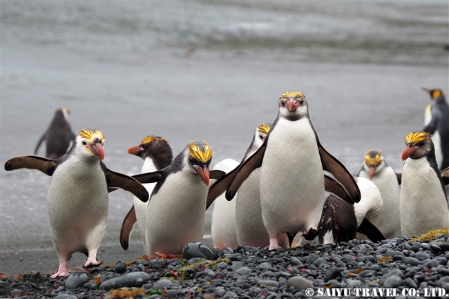
<instances>
[{"instance_id":1,"label":"dark flipper on the left side of the tallest central penguin","mask_svg":"<svg viewBox=\"0 0 449 299\"><path fill-rule=\"evenodd\" d=\"M267 149L267 140L260 146L260 148L251 155L245 162L240 164L238 167L236 174L233 175L231 182L226 190L226 199L232 200L240 186L242 186L243 182L251 175L254 169L262 166L263 156L265 155L265 150Z\"/></svg>"}]
</instances>

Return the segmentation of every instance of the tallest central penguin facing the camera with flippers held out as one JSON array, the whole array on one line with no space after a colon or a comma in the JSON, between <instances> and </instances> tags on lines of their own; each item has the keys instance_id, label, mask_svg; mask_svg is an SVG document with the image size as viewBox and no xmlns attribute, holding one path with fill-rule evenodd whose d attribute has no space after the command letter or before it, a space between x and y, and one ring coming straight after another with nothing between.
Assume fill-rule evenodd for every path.
<instances>
[{"instance_id":1,"label":"tallest central penguin facing the camera with flippers held out","mask_svg":"<svg viewBox=\"0 0 449 299\"><path fill-rule=\"evenodd\" d=\"M343 184L345 200L359 202L361 197L345 166L321 146L303 93L283 93L278 104L278 117L265 142L239 166L226 192L227 199L233 198L252 171L260 167L260 204L269 249L288 244L287 233L307 231L303 234L307 240L318 235L316 228L325 202L323 170Z\"/></svg>"}]
</instances>

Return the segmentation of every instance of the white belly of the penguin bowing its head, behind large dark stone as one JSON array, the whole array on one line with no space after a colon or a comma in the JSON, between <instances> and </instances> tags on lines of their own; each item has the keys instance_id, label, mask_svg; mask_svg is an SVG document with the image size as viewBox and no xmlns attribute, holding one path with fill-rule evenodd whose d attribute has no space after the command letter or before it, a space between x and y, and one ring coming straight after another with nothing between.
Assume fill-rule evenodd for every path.
<instances>
[{"instance_id":1,"label":"white belly of the penguin bowing its head, behind large dark stone","mask_svg":"<svg viewBox=\"0 0 449 299\"><path fill-rule=\"evenodd\" d=\"M169 175L146 211L146 247L180 254L188 242L202 241L208 187L189 170Z\"/></svg>"}]
</instances>

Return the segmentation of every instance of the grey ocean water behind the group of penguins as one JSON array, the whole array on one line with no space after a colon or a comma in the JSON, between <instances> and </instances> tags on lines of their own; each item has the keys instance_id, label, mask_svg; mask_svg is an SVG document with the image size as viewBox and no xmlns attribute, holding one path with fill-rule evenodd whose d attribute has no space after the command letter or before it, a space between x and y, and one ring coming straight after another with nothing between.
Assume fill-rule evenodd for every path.
<instances>
[{"instance_id":1,"label":"grey ocean water behind the group of penguins","mask_svg":"<svg viewBox=\"0 0 449 299\"><path fill-rule=\"evenodd\" d=\"M196 139L215 151L212 164L240 160L256 125L276 119L278 97L300 90L321 144L351 173L372 148L401 172L405 135L423 128L430 102L421 87L449 90L448 1L0 6L2 164L32 154L59 107L73 131L104 133L113 171L140 173L126 150L147 135L169 139L175 155ZM0 249L52 247L50 177L3 170L0 179ZM119 242L132 204L111 193L104 243Z\"/></svg>"}]
</instances>

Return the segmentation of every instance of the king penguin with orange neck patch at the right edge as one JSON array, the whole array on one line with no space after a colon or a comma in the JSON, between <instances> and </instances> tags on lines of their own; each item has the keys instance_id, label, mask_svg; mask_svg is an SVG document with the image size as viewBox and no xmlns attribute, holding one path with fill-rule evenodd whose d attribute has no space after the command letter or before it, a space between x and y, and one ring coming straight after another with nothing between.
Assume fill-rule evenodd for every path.
<instances>
[{"instance_id":1,"label":"king penguin with orange neck patch at the right edge","mask_svg":"<svg viewBox=\"0 0 449 299\"><path fill-rule=\"evenodd\" d=\"M446 102L446 94L441 89L426 89L426 92L430 95L434 101L428 105L430 107L431 117L430 122L423 128L423 132L434 134L436 131L439 133L439 142L441 144L441 155L443 160L439 164L439 169L446 169L449 167L449 105ZM428 108L426 110L428 110ZM429 113L426 113L428 115Z\"/></svg>"}]
</instances>

